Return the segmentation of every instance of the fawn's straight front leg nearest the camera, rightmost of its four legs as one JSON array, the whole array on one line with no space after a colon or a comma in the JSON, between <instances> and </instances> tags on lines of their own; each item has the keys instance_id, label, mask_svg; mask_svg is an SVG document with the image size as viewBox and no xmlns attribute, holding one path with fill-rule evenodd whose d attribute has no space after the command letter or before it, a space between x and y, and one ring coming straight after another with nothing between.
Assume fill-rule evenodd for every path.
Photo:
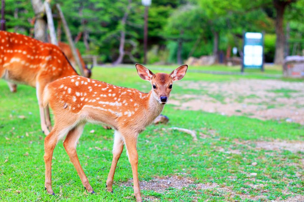
<instances>
[{"instance_id":1,"label":"fawn's straight front leg nearest the camera, rightmost of its four legs","mask_svg":"<svg viewBox=\"0 0 304 202\"><path fill-rule=\"evenodd\" d=\"M138 165L138 154L137 154L137 149L136 149L137 135L125 137L124 139L125 139L126 149L128 152L129 161L130 161L130 164L132 167L134 195L135 195L136 201L140 202L140 201L143 201L143 199L140 195L138 173L137 173L137 165Z\"/></svg>"}]
</instances>

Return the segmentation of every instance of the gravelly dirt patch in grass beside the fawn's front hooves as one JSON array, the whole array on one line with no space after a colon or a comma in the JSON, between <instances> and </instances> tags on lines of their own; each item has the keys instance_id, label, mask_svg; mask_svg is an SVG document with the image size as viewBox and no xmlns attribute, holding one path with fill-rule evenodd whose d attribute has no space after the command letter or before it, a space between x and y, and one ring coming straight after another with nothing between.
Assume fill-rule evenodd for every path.
<instances>
[{"instance_id":1,"label":"gravelly dirt patch in grass beside the fawn's front hooves","mask_svg":"<svg viewBox=\"0 0 304 202\"><path fill-rule=\"evenodd\" d=\"M131 187L133 180L128 180L126 182L121 183L120 186L127 186ZM212 189L214 187L218 187L219 185L216 183L194 183L194 180L187 177L181 176L171 176L171 177L156 177L150 181L140 181L140 188L143 190L153 190L157 193L164 193L169 188L175 189L183 189L188 188L189 186L195 190L202 190L202 189Z\"/></svg>"}]
</instances>

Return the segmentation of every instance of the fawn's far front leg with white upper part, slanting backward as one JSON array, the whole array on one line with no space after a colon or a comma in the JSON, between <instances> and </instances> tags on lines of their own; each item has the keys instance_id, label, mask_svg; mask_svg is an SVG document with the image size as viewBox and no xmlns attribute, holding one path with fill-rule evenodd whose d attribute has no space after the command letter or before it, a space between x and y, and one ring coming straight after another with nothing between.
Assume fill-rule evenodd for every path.
<instances>
[{"instance_id":1,"label":"fawn's far front leg with white upper part, slanting backward","mask_svg":"<svg viewBox=\"0 0 304 202\"><path fill-rule=\"evenodd\" d=\"M119 157L121 153L123 152L123 137L118 131L114 132L114 145L113 145L113 159L112 164L110 168L110 172L108 175L108 179L106 182L106 187L109 192L113 192L112 184L113 184L113 178L115 174L115 169L117 162L119 160Z\"/></svg>"}]
</instances>

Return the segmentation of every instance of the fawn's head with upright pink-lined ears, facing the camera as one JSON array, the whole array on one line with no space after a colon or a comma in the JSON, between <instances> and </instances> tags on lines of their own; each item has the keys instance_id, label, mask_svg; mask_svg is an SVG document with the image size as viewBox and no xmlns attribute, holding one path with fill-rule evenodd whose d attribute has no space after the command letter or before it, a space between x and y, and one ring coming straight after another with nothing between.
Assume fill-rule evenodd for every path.
<instances>
[{"instance_id":1,"label":"fawn's head with upright pink-lined ears, facing the camera","mask_svg":"<svg viewBox=\"0 0 304 202\"><path fill-rule=\"evenodd\" d=\"M153 74L152 71L140 64L136 64L135 67L140 78L150 81L153 97L160 104L166 104L172 90L173 81L179 81L185 76L188 65L179 66L174 69L171 74Z\"/></svg>"}]
</instances>

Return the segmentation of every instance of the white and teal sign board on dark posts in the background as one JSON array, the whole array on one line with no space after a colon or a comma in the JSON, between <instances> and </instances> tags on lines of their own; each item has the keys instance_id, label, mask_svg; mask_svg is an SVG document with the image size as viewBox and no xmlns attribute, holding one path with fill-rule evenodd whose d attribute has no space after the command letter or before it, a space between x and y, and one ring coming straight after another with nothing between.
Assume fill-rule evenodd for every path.
<instances>
[{"instance_id":1,"label":"white and teal sign board on dark posts in the background","mask_svg":"<svg viewBox=\"0 0 304 202\"><path fill-rule=\"evenodd\" d=\"M261 68L264 71L264 35L260 32L244 33L243 46L243 64L241 72L244 68Z\"/></svg>"}]
</instances>

